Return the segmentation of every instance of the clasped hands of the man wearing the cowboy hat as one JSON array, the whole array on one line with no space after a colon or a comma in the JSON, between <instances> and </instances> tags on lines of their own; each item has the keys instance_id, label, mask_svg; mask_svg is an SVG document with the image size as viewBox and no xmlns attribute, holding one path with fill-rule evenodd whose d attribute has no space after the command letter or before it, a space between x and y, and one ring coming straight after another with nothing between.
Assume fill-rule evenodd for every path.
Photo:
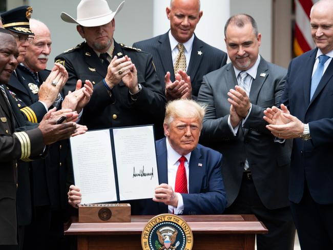
<instances>
[{"instance_id":1,"label":"clasped hands of the man wearing the cowboy hat","mask_svg":"<svg viewBox=\"0 0 333 250\"><path fill-rule=\"evenodd\" d=\"M120 58L114 56L108 66L108 73L105 77L105 82L111 90L121 80L132 94L139 92L137 70L131 58L127 55Z\"/></svg>"}]
</instances>

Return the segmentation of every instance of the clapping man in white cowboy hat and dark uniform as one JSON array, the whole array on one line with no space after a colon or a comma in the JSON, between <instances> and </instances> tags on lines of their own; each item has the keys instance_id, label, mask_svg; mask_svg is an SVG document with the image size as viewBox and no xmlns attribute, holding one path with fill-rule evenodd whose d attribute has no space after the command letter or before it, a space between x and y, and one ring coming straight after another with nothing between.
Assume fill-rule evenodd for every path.
<instances>
[{"instance_id":1,"label":"clapping man in white cowboy hat and dark uniform","mask_svg":"<svg viewBox=\"0 0 333 250\"><path fill-rule=\"evenodd\" d=\"M82 123L91 129L155 124L156 138L163 137L165 97L152 56L118 44L113 39L114 16L106 0L81 0L77 19L61 13L61 19L78 24L86 41L58 55L69 79L64 94L75 89L78 79L94 84L93 95L82 114Z\"/></svg>"}]
</instances>

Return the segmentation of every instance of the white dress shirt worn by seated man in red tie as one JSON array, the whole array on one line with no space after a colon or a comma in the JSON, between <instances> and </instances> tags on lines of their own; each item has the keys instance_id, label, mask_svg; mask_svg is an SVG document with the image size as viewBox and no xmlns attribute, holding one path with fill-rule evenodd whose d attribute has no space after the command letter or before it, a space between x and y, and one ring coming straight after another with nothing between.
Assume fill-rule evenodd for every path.
<instances>
[{"instance_id":1,"label":"white dress shirt worn by seated man in red tie","mask_svg":"<svg viewBox=\"0 0 333 250\"><path fill-rule=\"evenodd\" d=\"M176 182L176 174L179 166L179 158L181 157L170 145L169 139L166 138L166 154L168 158L168 184L172 186L172 189L175 191L175 182ZM189 162L191 157L191 152L187 155L184 155L186 161L184 162L185 165L185 172L186 172L186 180L188 180L188 191L190 188L189 185ZM176 193L178 196L178 206L174 207L168 205L168 211L170 214L174 213L175 215L182 214L184 210L184 202L183 197L180 193Z\"/></svg>"}]
</instances>

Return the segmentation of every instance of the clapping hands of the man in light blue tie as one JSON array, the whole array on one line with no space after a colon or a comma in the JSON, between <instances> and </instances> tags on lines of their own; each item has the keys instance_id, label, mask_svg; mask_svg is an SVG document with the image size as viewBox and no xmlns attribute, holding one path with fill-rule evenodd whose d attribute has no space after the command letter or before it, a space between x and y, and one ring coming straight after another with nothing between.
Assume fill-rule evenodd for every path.
<instances>
[{"instance_id":1,"label":"clapping hands of the man in light blue tie","mask_svg":"<svg viewBox=\"0 0 333 250\"><path fill-rule=\"evenodd\" d=\"M273 106L264 110L264 120L268 122L266 128L276 137L293 139L303 135L304 123L296 116L290 115L289 110L283 104L281 109Z\"/></svg>"}]
</instances>

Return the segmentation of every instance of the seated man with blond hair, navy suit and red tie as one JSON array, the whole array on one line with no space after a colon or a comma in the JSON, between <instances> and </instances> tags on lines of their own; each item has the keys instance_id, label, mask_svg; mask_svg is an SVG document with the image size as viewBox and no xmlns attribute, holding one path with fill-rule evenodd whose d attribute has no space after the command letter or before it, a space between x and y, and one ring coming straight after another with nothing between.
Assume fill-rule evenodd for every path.
<instances>
[{"instance_id":1,"label":"seated man with blond hair, navy suit and red tie","mask_svg":"<svg viewBox=\"0 0 333 250\"><path fill-rule=\"evenodd\" d=\"M204 108L193 100L166 106L164 133L156 141L159 185L153 199L131 202L132 215L221 214L226 199L221 176L222 155L198 144ZM81 201L78 187L70 186L68 201Z\"/></svg>"}]
</instances>

